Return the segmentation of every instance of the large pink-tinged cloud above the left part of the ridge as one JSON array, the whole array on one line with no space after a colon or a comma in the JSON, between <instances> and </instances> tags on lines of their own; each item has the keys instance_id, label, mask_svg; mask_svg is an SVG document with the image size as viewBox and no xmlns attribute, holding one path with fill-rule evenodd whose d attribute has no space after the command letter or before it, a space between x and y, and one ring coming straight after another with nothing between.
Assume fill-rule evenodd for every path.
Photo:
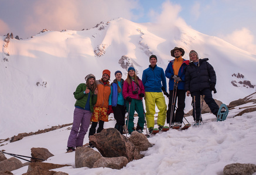
<instances>
[{"instance_id":1,"label":"large pink-tinged cloud above the left part of the ridge","mask_svg":"<svg viewBox=\"0 0 256 175\"><path fill-rule=\"evenodd\" d=\"M131 19L131 9L136 8L136 1L33 1L32 13L24 20L26 33L49 30L90 29L97 23L107 22L117 17Z\"/></svg>"}]
</instances>

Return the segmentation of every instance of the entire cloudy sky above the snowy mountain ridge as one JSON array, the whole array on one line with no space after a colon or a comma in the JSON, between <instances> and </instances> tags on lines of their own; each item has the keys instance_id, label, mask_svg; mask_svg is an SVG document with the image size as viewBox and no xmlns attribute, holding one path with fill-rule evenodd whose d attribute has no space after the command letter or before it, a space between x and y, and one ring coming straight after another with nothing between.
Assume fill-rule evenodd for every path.
<instances>
[{"instance_id":1,"label":"entire cloudy sky above the snowy mountain ridge","mask_svg":"<svg viewBox=\"0 0 256 175\"><path fill-rule=\"evenodd\" d=\"M136 23L186 23L256 54L255 0L0 0L0 36L90 29L117 17Z\"/></svg>"}]
</instances>

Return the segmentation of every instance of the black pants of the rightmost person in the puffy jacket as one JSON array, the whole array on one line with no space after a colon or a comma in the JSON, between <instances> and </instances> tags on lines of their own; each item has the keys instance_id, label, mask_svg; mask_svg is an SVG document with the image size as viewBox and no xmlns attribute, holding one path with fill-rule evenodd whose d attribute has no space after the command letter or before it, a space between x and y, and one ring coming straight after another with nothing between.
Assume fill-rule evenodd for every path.
<instances>
[{"instance_id":1,"label":"black pants of the rightmost person in the puffy jacket","mask_svg":"<svg viewBox=\"0 0 256 175\"><path fill-rule=\"evenodd\" d=\"M211 113L214 115L217 115L219 111L218 104L214 101L213 96L211 95L211 90L209 88L200 90L200 91L194 91L191 92L192 100L194 100L194 96L196 96L196 118L194 116L194 105L193 105L193 118L194 121L202 121L201 116L201 102L200 102L200 95L204 95L204 101L206 101L206 104L209 106ZM193 104L193 103L192 103Z\"/></svg>"}]
</instances>

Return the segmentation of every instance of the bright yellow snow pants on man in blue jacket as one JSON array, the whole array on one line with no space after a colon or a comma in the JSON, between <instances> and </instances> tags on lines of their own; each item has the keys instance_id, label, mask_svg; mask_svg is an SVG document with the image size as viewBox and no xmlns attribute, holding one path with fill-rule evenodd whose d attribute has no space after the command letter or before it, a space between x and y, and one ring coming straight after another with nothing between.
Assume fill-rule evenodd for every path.
<instances>
[{"instance_id":1,"label":"bright yellow snow pants on man in blue jacket","mask_svg":"<svg viewBox=\"0 0 256 175\"><path fill-rule=\"evenodd\" d=\"M162 92L145 92L145 105L146 105L146 125L153 127L155 125L155 107L158 107L158 125L165 125L166 119L166 103L165 97Z\"/></svg>"}]
</instances>

